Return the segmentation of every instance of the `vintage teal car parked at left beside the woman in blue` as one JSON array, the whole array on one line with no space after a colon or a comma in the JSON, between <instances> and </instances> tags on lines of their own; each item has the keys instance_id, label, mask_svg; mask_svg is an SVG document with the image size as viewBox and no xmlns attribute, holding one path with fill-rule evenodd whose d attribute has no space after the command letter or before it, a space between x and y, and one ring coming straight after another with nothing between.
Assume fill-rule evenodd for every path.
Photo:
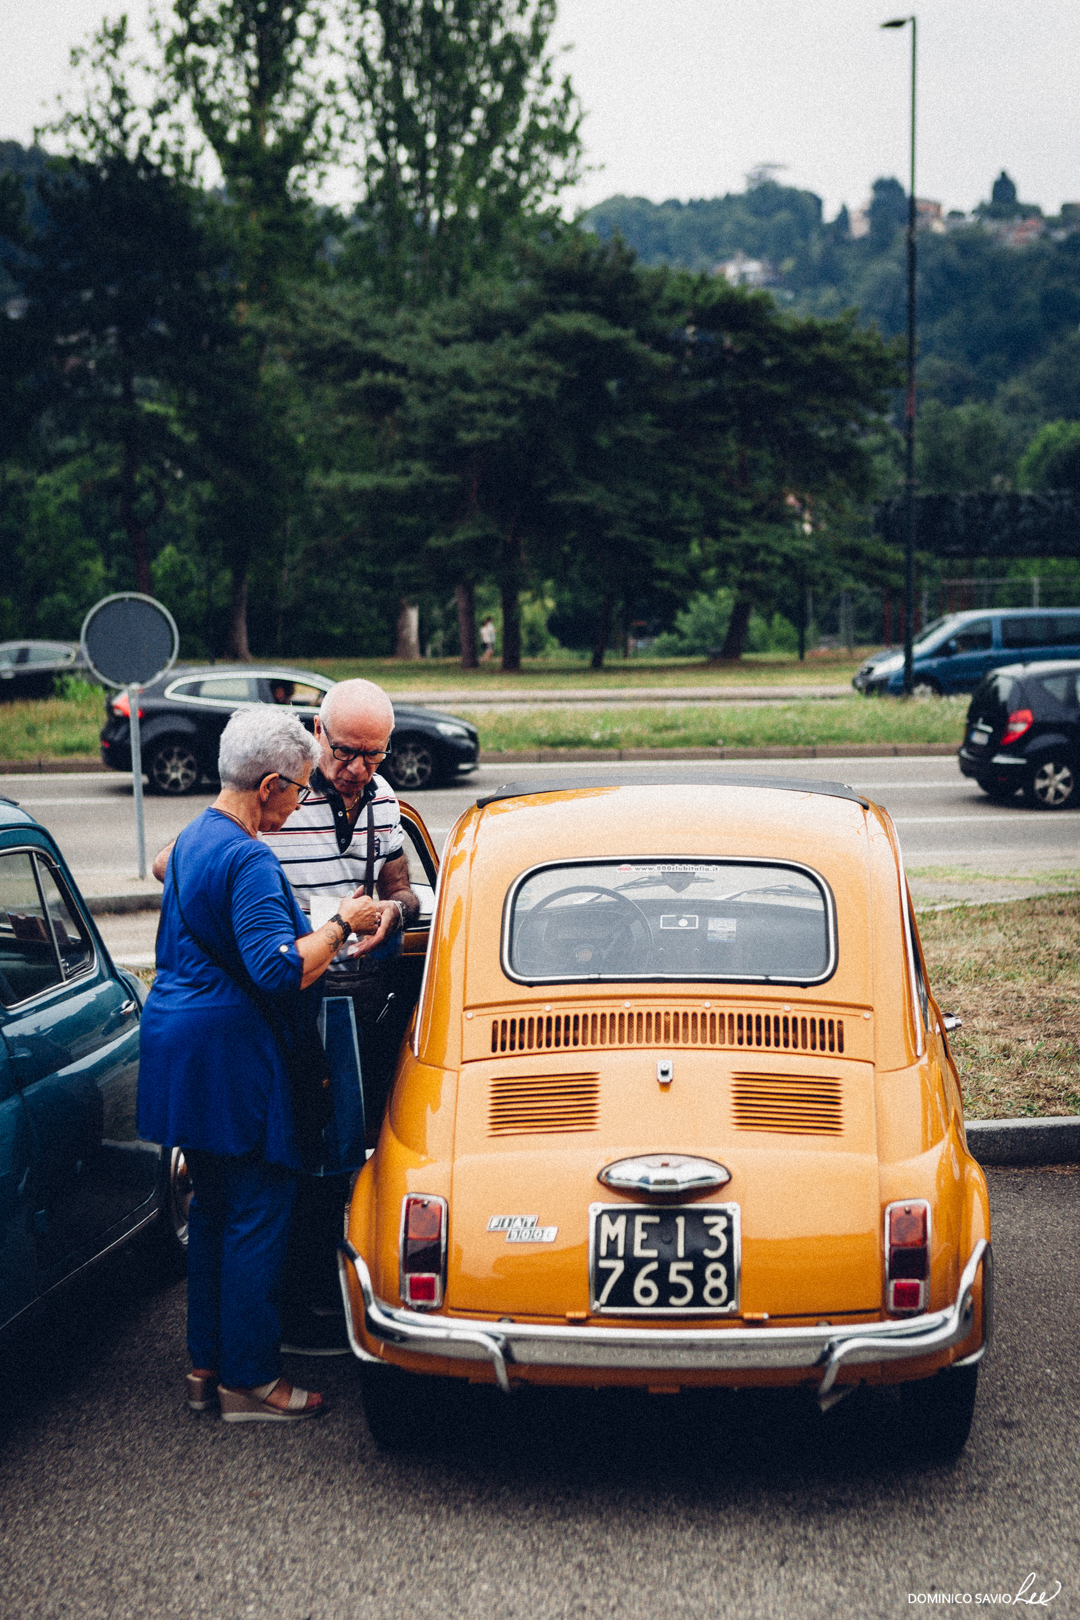
<instances>
[{"instance_id":1,"label":"vintage teal car parked at left beside the woman in blue","mask_svg":"<svg viewBox=\"0 0 1080 1620\"><path fill-rule=\"evenodd\" d=\"M50 834L0 799L0 1332L144 1230L152 1265L183 1265L183 1160L136 1136L144 996Z\"/></svg>"}]
</instances>

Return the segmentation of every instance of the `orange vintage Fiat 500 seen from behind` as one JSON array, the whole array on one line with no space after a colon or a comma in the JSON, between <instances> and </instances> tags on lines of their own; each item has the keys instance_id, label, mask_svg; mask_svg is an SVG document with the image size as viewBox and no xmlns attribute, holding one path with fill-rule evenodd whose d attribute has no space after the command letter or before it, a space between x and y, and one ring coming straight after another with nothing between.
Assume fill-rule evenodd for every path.
<instances>
[{"instance_id":1,"label":"orange vintage Fiat 500 seen from behind","mask_svg":"<svg viewBox=\"0 0 1080 1620\"><path fill-rule=\"evenodd\" d=\"M376 1440L423 1439L455 1379L870 1383L955 1456L991 1249L949 1024L848 787L481 799L340 1252Z\"/></svg>"}]
</instances>

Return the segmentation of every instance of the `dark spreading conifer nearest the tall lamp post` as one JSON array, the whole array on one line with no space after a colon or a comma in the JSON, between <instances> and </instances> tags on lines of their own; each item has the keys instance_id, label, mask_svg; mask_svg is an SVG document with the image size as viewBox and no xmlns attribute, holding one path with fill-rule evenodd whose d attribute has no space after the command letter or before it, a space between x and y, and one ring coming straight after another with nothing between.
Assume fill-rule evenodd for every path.
<instances>
[{"instance_id":1,"label":"dark spreading conifer nearest the tall lamp post","mask_svg":"<svg viewBox=\"0 0 1080 1620\"><path fill-rule=\"evenodd\" d=\"M793 319L716 279L670 285L680 358L669 442L719 583L735 591L721 658L740 658L756 601L821 567L873 480L899 363L853 316Z\"/></svg>"}]
</instances>

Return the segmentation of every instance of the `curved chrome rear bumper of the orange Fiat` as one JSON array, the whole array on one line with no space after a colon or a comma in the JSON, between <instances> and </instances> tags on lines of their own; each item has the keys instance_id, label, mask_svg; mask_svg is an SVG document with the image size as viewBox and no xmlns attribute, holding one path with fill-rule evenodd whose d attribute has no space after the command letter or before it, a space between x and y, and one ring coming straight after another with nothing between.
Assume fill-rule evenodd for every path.
<instances>
[{"instance_id":1,"label":"curved chrome rear bumper of the orange Fiat","mask_svg":"<svg viewBox=\"0 0 1080 1620\"><path fill-rule=\"evenodd\" d=\"M376 1299L371 1273L350 1243L338 1246L345 1320L353 1353L374 1358L356 1340L348 1293L351 1267L364 1301L364 1327L372 1338L419 1356L489 1361L499 1387L510 1392L510 1369L585 1367L654 1372L766 1371L818 1367L818 1400L824 1401L842 1366L866 1361L915 1361L960 1345L972 1332L973 1290L984 1267L983 1348L989 1336L991 1251L980 1238L963 1267L955 1301L946 1311L897 1322L860 1322L852 1327L562 1327L529 1322L478 1322L426 1315ZM980 1351L975 1353L976 1356ZM970 1358L973 1359L973 1358Z\"/></svg>"}]
</instances>

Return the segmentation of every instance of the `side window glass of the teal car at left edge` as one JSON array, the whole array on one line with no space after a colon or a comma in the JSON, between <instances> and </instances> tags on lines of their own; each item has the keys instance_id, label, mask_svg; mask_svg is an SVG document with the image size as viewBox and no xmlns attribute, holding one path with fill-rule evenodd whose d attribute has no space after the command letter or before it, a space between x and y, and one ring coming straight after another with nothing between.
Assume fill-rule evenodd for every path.
<instances>
[{"instance_id":1,"label":"side window glass of the teal car at left edge","mask_svg":"<svg viewBox=\"0 0 1080 1620\"><path fill-rule=\"evenodd\" d=\"M52 868L29 850L0 855L0 1001L16 1006L65 983L94 948Z\"/></svg>"}]
</instances>

